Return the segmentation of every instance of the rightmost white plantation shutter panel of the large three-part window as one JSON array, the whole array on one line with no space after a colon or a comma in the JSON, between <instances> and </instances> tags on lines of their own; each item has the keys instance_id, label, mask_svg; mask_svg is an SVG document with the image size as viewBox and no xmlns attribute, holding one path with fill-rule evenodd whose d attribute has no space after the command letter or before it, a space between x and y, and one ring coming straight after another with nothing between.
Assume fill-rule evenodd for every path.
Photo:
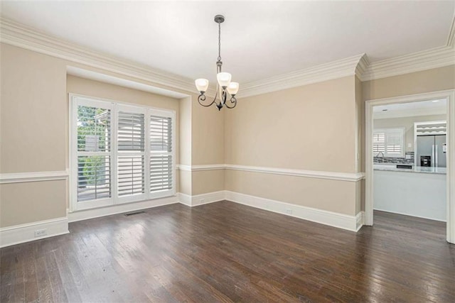
<instances>
[{"instance_id":1,"label":"rightmost white plantation shutter panel of the large three-part window","mask_svg":"<svg viewBox=\"0 0 455 303\"><path fill-rule=\"evenodd\" d=\"M173 189L173 133L169 116L150 115L150 192Z\"/></svg>"}]
</instances>

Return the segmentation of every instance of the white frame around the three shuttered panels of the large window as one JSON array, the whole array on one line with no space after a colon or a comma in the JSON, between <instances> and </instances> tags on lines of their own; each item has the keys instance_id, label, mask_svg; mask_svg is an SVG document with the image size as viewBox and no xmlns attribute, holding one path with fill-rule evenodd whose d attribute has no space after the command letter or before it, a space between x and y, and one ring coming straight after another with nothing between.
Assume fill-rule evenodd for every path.
<instances>
[{"instance_id":1,"label":"white frame around the three shuttered panels of the large window","mask_svg":"<svg viewBox=\"0 0 455 303\"><path fill-rule=\"evenodd\" d=\"M164 197L171 197L176 195L176 111L172 109L161 109L152 106L142 106L140 104L131 104L122 101L116 101L112 99L104 99L98 97L90 97L82 94L68 94L69 100L69 140L68 140L68 150L69 150L69 178L68 178L68 191L69 191L69 206L70 211L82 211L85 209L96 209L105 206L114 206L118 204L126 204L133 202L144 202L151 199L159 199ZM82 104L80 102L82 101ZM98 104L98 105L95 105ZM109 150L109 155L111 157L111 171L112 171L112 180L111 180L111 191L112 197L106 199L97 199L86 202L77 202L77 106L99 106L105 109L111 110L111 146ZM132 109L133 111L138 111L144 114L145 123L144 123L144 135L145 135L145 144L147 148L144 150L144 182L145 182L145 193L137 196L129 197L119 197L117 192L117 121L118 121L118 111L119 109ZM171 132L172 132L172 188L164 190L162 192L150 192L149 186L149 161L150 161L150 150L149 150L149 119L150 115L154 116L164 116L171 118Z\"/></svg>"}]
</instances>

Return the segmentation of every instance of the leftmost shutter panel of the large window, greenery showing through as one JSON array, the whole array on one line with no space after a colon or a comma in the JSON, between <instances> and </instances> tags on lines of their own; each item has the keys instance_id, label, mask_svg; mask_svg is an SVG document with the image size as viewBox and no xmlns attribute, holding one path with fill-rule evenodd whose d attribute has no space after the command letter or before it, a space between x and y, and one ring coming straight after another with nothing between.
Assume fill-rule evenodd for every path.
<instances>
[{"instance_id":1,"label":"leftmost shutter panel of the large window, greenery showing through","mask_svg":"<svg viewBox=\"0 0 455 303\"><path fill-rule=\"evenodd\" d=\"M78 208L87 204L112 203L112 106L104 102L75 99L73 104L73 153L75 199ZM73 197L74 197L73 196Z\"/></svg>"}]
</instances>

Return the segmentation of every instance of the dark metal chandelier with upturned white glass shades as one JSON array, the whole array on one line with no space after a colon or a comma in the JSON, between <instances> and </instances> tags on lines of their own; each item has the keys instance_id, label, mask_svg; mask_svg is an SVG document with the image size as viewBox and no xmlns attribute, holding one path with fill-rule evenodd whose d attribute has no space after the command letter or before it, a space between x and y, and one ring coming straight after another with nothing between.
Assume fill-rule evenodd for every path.
<instances>
[{"instance_id":1,"label":"dark metal chandelier with upturned white glass shades","mask_svg":"<svg viewBox=\"0 0 455 303\"><path fill-rule=\"evenodd\" d=\"M218 111L226 106L228 109L233 109L237 105L237 99L235 99L235 94L237 94L239 90L239 84L237 82L231 82L231 75L229 72L221 72L221 66L223 62L221 62L221 23L225 21L225 17L221 15L215 16L215 22L218 23L218 61L216 62L216 94L215 98L210 104L205 104L205 92L208 89L208 79L197 79L195 81L196 88L200 95L198 97L198 102L202 106L211 106L215 104L218 107ZM228 102L228 94L230 98Z\"/></svg>"}]
</instances>

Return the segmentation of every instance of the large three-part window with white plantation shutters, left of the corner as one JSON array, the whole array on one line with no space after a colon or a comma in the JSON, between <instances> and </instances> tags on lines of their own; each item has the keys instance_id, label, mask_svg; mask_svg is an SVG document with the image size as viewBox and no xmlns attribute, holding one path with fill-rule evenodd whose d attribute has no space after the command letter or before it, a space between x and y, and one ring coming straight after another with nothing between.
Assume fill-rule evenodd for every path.
<instances>
[{"instance_id":1,"label":"large three-part window with white plantation shutters, left of the corner","mask_svg":"<svg viewBox=\"0 0 455 303\"><path fill-rule=\"evenodd\" d=\"M176 193L173 111L71 101L73 210Z\"/></svg>"}]
</instances>

